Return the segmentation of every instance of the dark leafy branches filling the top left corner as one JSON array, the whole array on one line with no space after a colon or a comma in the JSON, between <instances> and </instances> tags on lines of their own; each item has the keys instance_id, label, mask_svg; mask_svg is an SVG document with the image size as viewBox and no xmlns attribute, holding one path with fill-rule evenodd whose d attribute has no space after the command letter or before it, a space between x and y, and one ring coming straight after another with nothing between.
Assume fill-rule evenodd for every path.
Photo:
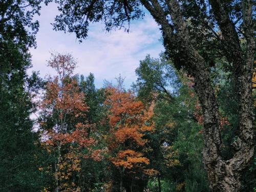
<instances>
[{"instance_id":1,"label":"dark leafy branches filling the top left corner","mask_svg":"<svg viewBox=\"0 0 256 192\"><path fill-rule=\"evenodd\" d=\"M41 2L41 0L1 1L0 38L12 39L24 50L35 47L35 34L39 23L33 20L33 16L39 15Z\"/></svg>"}]
</instances>

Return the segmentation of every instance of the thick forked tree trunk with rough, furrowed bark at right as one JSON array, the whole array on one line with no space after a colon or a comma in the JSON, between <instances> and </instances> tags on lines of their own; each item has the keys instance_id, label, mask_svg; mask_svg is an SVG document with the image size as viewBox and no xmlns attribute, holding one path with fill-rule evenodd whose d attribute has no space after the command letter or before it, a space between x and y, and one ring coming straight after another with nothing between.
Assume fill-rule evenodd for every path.
<instances>
[{"instance_id":1,"label":"thick forked tree trunk with rough, furrowed bark at right","mask_svg":"<svg viewBox=\"0 0 256 192\"><path fill-rule=\"evenodd\" d=\"M241 187L242 170L246 168L254 152L253 135L253 104L252 104L252 67L255 42L253 36L252 1L242 1L243 30L246 39L246 55L240 46L239 36L235 24L225 11L224 1L210 0L218 26L222 33L225 56L232 63L233 75L239 100L239 135L232 143L236 153L229 160L221 157L221 131L219 106L211 86L209 69L206 61L193 47L190 41L187 24L182 16L177 0L165 0L168 13L172 20L166 18L166 9L157 0L141 0L141 3L151 13L161 26L167 47L182 55L180 60L195 78L195 90L198 94L204 117L204 164L208 173L208 180L212 191L239 191Z\"/></svg>"}]
</instances>

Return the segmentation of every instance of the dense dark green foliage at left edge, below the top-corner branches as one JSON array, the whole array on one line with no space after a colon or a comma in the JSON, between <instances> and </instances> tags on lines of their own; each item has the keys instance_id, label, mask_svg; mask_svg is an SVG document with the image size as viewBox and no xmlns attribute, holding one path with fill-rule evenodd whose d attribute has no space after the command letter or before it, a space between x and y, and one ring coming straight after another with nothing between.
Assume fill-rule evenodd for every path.
<instances>
[{"instance_id":1,"label":"dense dark green foliage at left edge, below the top-corner branches","mask_svg":"<svg viewBox=\"0 0 256 192\"><path fill-rule=\"evenodd\" d=\"M0 40L0 190L38 191L38 135L32 132L32 93L36 74L29 78L30 55L13 41Z\"/></svg>"}]
</instances>

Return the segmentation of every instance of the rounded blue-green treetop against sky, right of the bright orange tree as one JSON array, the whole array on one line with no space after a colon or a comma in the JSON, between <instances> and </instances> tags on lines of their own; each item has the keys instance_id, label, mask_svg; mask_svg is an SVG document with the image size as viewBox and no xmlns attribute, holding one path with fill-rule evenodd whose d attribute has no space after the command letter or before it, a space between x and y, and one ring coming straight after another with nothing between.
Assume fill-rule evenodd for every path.
<instances>
[{"instance_id":1,"label":"rounded blue-green treetop against sky, right of the bright orange tree","mask_svg":"<svg viewBox=\"0 0 256 192\"><path fill-rule=\"evenodd\" d=\"M171 93L179 88L175 71L163 53L157 59L147 55L144 60L140 61L140 67L135 73L138 79L136 84L133 84L133 88L143 101L155 99L156 93L158 97L172 99Z\"/></svg>"}]
</instances>

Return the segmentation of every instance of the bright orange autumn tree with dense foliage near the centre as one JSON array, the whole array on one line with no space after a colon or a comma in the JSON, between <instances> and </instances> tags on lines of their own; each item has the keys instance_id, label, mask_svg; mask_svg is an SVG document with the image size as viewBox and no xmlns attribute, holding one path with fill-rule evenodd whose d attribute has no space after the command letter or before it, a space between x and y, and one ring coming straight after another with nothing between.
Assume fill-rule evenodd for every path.
<instances>
[{"instance_id":1,"label":"bright orange autumn tree with dense foliage near the centre","mask_svg":"<svg viewBox=\"0 0 256 192\"><path fill-rule=\"evenodd\" d=\"M152 132L151 112L146 111L143 103L136 100L131 91L122 87L119 78L118 86L106 88L105 105L109 109L110 136L107 138L110 158L118 168L120 191L143 191L147 175L154 174L153 169L147 168L150 160L143 155L143 147L147 142L145 132Z\"/></svg>"}]
</instances>

